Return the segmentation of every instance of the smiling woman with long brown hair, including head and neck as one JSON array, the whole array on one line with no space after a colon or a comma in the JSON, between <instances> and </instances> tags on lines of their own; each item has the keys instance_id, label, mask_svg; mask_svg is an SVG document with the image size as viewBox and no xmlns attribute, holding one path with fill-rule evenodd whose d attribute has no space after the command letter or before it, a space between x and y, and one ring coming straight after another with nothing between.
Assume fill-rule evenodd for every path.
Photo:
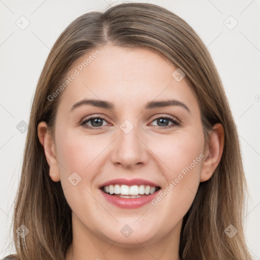
<instances>
[{"instance_id":1,"label":"smiling woman with long brown hair, including head and neck","mask_svg":"<svg viewBox=\"0 0 260 260\"><path fill-rule=\"evenodd\" d=\"M35 93L11 259L251 259L237 130L196 32L152 4L73 21Z\"/></svg>"}]
</instances>

